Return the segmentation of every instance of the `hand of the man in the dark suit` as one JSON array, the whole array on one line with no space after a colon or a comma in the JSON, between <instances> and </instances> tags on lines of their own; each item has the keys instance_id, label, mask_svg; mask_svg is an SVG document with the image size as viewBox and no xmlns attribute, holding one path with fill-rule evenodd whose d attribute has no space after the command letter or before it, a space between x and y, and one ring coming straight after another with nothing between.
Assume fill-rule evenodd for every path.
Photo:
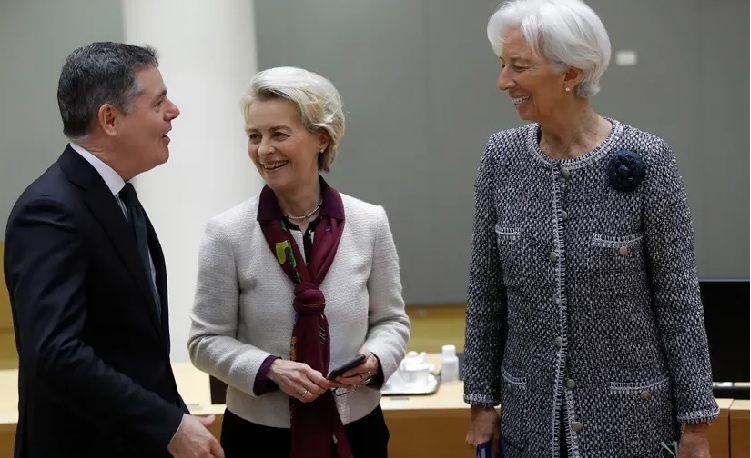
<instances>
[{"instance_id":1,"label":"hand of the man in the dark suit","mask_svg":"<svg viewBox=\"0 0 751 458\"><path fill-rule=\"evenodd\" d=\"M167 444L167 451L175 458L224 458L219 442L206 429L212 423L213 415L194 417L184 414L175 437Z\"/></svg>"}]
</instances>

